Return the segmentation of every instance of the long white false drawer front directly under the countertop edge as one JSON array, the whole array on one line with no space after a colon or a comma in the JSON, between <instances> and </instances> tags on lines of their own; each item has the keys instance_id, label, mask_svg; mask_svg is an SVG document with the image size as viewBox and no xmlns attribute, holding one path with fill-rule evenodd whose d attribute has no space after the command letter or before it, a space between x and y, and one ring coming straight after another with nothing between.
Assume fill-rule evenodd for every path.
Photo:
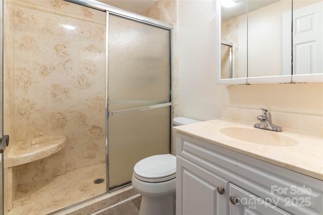
<instances>
[{"instance_id":1,"label":"long white false drawer front directly under the countertop edge","mask_svg":"<svg viewBox=\"0 0 323 215\"><path fill-rule=\"evenodd\" d=\"M177 155L243 187L272 198L293 214L323 214L323 181L209 142L176 133Z\"/></svg>"}]
</instances>

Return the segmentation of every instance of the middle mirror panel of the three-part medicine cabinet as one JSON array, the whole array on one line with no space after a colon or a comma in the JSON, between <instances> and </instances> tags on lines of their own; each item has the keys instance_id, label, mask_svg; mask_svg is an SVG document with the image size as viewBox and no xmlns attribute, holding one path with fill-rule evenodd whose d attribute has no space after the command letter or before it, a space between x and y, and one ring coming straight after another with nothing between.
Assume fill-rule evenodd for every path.
<instances>
[{"instance_id":1,"label":"middle mirror panel of the three-part medicine cabinet","mask_svg":"<svg viewBox=\"0 0 323 215\"><path fill-rule=\"evenodd\" d=\"M248 9L248 77L291 75L292 1L250 4L259 7Z\"/></svg>"}]
</instances>

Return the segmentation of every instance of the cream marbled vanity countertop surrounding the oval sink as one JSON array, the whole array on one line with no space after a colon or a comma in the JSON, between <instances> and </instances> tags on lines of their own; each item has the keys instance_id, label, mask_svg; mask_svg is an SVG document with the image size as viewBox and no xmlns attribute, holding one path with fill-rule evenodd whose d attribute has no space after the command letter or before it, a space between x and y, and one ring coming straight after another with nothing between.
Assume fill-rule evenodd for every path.
<instances>
[{"instance_id":1,"label":"cream marbled vanity countertop surrounding the oval sink","mask_svg":"<svg viewBox=\"0 0 323 215\"><path fill-rule=\"evenodd\" d=\"M272 163L320 180L323 180L323 138L285 131L280 135L294 138L296 146L268 146L238 140L221 133L222 128L254 128L253 123L244 124L215 119L173 127L175 131L210 142L211 144ZM261 129L263 130L263 129ZM276 132L264 130L266 132Z\"/></svg>"}]
</instances>

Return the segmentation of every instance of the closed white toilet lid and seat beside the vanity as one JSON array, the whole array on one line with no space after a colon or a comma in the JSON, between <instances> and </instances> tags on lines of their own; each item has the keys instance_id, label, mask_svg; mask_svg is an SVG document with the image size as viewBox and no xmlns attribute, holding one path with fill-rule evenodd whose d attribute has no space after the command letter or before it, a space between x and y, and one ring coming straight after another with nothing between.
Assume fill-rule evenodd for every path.
<instances>
[{"instance_id":1,"label":"closed white toilet lid and seat beside the vanity","mask_svg":"<svg viewBox=\"0 0 323 215\"><path fill-rule=\"evenodd\" d=\"M176 177L176 157L166 154L142 159L135 165L134 175L146 182L171 180Z\"/></svg>"}]
</instances>

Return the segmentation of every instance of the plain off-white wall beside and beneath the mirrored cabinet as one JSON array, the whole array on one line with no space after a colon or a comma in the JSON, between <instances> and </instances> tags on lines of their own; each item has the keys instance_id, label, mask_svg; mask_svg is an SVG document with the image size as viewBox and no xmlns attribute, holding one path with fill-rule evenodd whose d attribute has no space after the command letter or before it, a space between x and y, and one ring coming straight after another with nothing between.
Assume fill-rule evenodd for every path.
<instances>
[{"instance_id":1,"label":"plain off-white wall beside and beneath the mirrored cabinet","mask_svg":"<svg viewBox=\"0 0 323 215\"><path fill-rule=\"evenodd\" d=\"M215 1L178 1L178 116L220 118L222 106L323 115L322 83L216 85L215 8Z\"/></svg>"}]
</instances>

